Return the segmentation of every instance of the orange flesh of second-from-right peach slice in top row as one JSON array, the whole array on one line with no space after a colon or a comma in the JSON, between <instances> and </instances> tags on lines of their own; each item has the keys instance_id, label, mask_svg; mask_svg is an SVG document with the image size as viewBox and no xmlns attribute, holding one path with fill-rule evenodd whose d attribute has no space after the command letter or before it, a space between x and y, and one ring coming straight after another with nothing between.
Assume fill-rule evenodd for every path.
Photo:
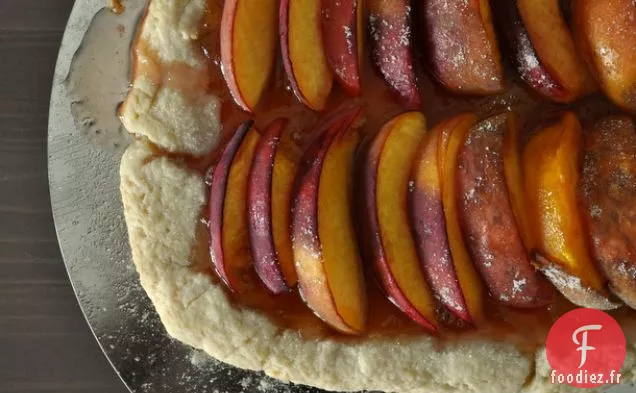
<instances>
[{"instance_id":1,"label":"orange flesh of second-from-right peach slice in top row","mask_svg":"<svg viewBox=\"0 0 636 393\"><path fill-rule=\"evenodd\" d=\"M566 93L561 101L573 101L595 90L596 84L576 50L559 0L516 2L541 67ZM556 98L558 95L553 99Z\"/></svg>"}]
</instances>

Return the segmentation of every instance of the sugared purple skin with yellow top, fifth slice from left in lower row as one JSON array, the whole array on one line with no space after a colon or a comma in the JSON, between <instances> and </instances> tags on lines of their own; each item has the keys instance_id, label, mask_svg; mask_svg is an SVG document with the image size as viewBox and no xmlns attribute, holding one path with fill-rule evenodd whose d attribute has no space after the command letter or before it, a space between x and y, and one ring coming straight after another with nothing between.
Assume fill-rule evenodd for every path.
<instances>
[{"instance_id":1,"label":"sugared purple skin with yellow top, fifth slice from left in lower row","mask_svg":"<svg viewBox=\"0 0 636 393\"><path fill-rule=\"evenodd\" d=\"M410 217L415 246L433 296L457 318L471 322L446 235L437 159L440 137L440 128L427 132L413 162Z\"/></svg>"}]
</instances>

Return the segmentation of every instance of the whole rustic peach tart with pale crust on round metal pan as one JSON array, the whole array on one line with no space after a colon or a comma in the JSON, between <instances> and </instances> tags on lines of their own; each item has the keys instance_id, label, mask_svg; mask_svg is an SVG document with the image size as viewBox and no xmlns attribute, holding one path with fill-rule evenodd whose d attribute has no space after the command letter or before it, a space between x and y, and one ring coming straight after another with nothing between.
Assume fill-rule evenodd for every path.
<instances>
[{"instance_id":1,"label":"whole rustic peach tart with pale crust on round metal pan","mask_svg":"<svg viewBox=\"0 0 636 393\"><path fill-rule=\"evenodd\" d=\"M606 310L636 379L633 0L151 0L120 115L170 335L330 390L562 392Z\"/></svg>"}]
</instances>

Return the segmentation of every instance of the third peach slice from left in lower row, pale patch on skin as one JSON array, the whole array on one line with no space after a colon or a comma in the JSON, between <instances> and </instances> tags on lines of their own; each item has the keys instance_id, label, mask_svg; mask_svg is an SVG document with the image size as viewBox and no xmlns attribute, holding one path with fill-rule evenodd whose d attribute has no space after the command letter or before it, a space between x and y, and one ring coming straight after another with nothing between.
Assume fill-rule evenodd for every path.
<instances>
[{"instance_id":1,"label":"third peach slice from left in lower row, pale patch on skin","mask_svg":"<svg viewBox=\"0 0 636 393\"><path fill-rule=\"evenodd\" d=\"M292 230L301 296L323 321L348 334L363 332L367 319L350 195L359 113L331 121L305 154Z\"/></svg>"}]
</instances>

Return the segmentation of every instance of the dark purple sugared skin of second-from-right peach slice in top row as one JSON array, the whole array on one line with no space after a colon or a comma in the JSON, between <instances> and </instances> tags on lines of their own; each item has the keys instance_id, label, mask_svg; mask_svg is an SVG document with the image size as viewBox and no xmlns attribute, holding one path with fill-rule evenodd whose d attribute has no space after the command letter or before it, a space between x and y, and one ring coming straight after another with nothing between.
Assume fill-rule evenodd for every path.
<instances>
[{"instance_id":1,"label":"dark purple sugared skin of second-from-right peach slice in top row","mask_svg":"<svg viewBox=\"0 0 636 393\"><path fill-rule=\"evenodd\" d=\"M516 0L494 0L500 36L521 79L537 93L557 102L574 97L552 78L534 50L528 30L521 20Z\"/></svg>"}]
</instances>

